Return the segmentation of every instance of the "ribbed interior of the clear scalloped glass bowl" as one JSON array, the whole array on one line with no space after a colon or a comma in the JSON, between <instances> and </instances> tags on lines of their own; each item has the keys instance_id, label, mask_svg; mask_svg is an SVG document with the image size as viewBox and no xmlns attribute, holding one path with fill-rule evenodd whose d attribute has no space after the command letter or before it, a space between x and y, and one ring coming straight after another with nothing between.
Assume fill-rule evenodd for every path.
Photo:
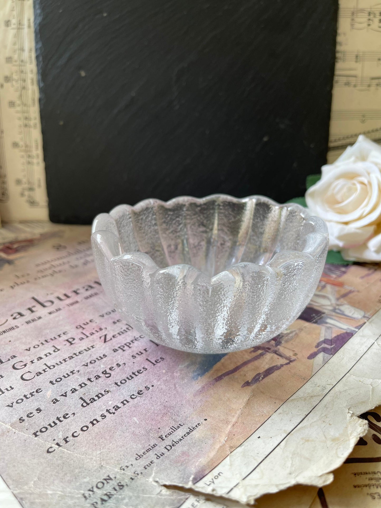
<instances>
[{"instance_id":1,"label":"ribbed interior of the clear scalloped glass bowl","mask_svg":"<svg viewBox=\"0 0 381 508\"><path fill-rule=\"evenodd\" d=\"M124 252L145 252L159 268L192 265L209 277L236 263L265 265L279 251L301 251L311 231L302 207L260 197L146 200L110 214Z\"/></svg>"}]
</instances>

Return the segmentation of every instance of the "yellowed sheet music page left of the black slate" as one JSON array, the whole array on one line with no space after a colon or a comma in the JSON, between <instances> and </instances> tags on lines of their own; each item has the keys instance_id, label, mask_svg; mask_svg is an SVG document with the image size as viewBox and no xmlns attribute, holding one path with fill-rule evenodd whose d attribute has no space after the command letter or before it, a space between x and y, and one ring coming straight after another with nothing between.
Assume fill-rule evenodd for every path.
<instances>
[{"instance_id":1,"label":"yellowed sheet music page left of the black slate","mask_svg":"<svg viewBox=\"0 0 381 508\"><path fill-rule=\"evenodd\" d=\"M0 3L0 216L45 220L33 0Z\"/></svg>"}]
</instances>

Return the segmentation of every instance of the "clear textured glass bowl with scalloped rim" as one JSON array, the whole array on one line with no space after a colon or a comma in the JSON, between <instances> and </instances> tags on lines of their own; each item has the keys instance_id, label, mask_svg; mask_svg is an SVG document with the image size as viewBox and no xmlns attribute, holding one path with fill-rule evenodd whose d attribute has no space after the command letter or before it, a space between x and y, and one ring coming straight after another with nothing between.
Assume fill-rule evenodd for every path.
<instances>
[{"instance_id":1,"label":"clear textured glass bowl with scalloped rim","mask_svg":"<svg viewBox=\"0 0 381 508\"><path fill-rule=\"evenodd\" d=\"M260 344L287 328L323 271L327 227L263 196L156 199L98 215L104 290L137 331L193 353Z\"/></svg>"}]
</instances>

